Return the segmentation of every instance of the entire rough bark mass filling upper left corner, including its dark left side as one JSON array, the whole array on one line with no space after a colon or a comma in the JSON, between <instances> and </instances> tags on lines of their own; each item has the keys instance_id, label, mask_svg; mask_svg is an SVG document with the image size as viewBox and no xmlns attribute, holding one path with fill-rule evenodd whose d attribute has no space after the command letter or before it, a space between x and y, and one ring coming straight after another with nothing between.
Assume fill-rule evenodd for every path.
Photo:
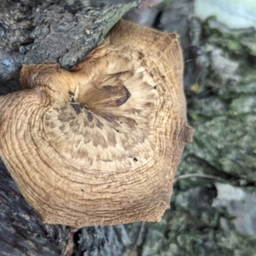
<instances>
[{"instance_id":1,"label":"entire rough bark mass filling upper left corner, including its dark left side","mask_svg":"<svg viewBox=\"0 0 256 256\"><path fill-rule=\"evenodd\" d=\"M122 15L139 4L134 0L93 7L85 2L1 1L0 81L18 77L21 63L73 66Z\"/></svg>"}]
</instances>

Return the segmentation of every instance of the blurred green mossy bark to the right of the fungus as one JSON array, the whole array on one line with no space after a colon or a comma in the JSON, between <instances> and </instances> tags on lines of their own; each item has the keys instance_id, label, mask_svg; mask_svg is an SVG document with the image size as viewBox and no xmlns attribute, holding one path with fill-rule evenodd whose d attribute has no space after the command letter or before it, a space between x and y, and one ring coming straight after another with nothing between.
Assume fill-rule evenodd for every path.
<instances>
[{"instance_id":1,"label":"blurred green mossy bark to the right of the fungus","mask_svg":"<svg viewBox=\"0 0 256 256\"><path fill-rule=\"evenodd\" d=\"M138 255L255 254L256 237L239 233L234 216L224 207L199 208L195 193L221 180L234 181L249 195L256 195L256 73L253 56L242 40L245 37L251 38L246 32L230 32L211 19L203 24L201 47L211 63L205 83L188 100L189 124L195 136L185 147L177 177L205 174L211 178L177 179L172 210L160 224L148 225ZM230 67L228 71L226 67Z\"/></svg>"}]
</instances>

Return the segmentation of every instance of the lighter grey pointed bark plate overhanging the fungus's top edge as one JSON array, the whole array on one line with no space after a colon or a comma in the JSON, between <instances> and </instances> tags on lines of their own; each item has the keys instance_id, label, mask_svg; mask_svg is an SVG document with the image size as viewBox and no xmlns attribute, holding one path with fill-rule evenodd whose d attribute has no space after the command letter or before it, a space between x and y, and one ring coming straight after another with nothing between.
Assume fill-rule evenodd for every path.
<instances>
[{"instance_id":1,"label":"lighter grey pointed bark plate overhanging the fungus's top edge","mask_svg":"<svg viewBox=\"0 0 256 256\"><path fill-rule=\"evenodd\" d=\"M36 26L32 33L35 40L26 54L25 63L59 62L62 67L73 66L96 47L117 20L137 4L137 1L131 1L96 8L84 6L81 9L50 5L47 12L40 9L35 15L40 26Z\"/></svg>"}]
</instances>

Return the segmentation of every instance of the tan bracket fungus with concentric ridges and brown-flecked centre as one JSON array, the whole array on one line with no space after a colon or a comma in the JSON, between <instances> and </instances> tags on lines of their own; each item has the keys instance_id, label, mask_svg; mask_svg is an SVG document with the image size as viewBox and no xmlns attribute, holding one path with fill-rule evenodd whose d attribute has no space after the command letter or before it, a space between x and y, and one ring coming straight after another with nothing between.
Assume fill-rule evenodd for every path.
<instances>
[{"instance_id":1,"label":"tan bracket fungus with concentric ridges and brown-flecked centre","mask_svg":"<svg viewBox=\"0 0 256 256\"><path fill-rule=\"evenodd\" d=\"M44 223L160 221L193 135L177 34L120 20L70 71L20 82L0 97L0 157Z\"/></svg>"}]
</instances>

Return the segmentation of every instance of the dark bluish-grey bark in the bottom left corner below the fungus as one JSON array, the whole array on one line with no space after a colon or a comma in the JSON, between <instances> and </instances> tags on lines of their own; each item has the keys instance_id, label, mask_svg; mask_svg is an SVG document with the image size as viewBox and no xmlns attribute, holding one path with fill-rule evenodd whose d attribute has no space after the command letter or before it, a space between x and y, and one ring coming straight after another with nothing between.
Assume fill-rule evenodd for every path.
<instances>
[{"instance_id":1,"label":"dark bluish-grey bark in the bottom left corner below the fungus","mask_svg":"<svg viewBox=\"0 0 256 256\"><path fill-rule=\"evenodd\" d=\"M67 228L42 224L0 161L1 255L59 256L67 244Z\"/></svg>"}]
</instances>

